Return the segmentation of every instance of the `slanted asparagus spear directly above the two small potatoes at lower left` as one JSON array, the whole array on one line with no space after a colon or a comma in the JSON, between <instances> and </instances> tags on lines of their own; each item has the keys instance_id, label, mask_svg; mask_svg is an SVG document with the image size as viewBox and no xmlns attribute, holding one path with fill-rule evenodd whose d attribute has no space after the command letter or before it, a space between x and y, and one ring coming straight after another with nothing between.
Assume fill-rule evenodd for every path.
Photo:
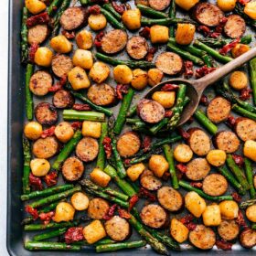
<instances>
[{"instance_id":1,"label":"slanted asparagus spear directly above the two small potatoes at lower left","mask_svg":"<svg viewBox=\"0 0 256 256\"><path fill-rule=\"evenodd\" d=\"M45 197L45 198L41 198L41 199L33 202L32 204L30 204L30 207L31 208L39 208L39 207L42 207L44 205L48 205L48 204L50 204L52 202L55 202L55 201L58 201L62 198L72 196L74 193L79 192L80 190L81 190L80 186L73 187L69 190L60 192L58 194L51 195L51 196Z\"/></svg>"}]
</instances>

